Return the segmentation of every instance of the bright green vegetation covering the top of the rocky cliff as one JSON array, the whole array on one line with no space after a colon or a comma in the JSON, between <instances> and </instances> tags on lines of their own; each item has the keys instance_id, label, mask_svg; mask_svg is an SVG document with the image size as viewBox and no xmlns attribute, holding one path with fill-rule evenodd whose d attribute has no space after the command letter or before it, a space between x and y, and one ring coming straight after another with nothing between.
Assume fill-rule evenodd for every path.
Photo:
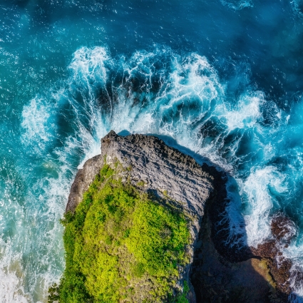
<instances>
[{"instance_id":1,"label":"bright green vegetation covering the top of the rocky cliff","mask_svg":"<svg viewBox=\"0 0 303 303\"><path fill-rule=\"evenodd\" d=\"M188 262L185 216L160 205L108 165L62 220L66 269L48 302L186 303L176 282Z\"/></svg>"}]
</instances>

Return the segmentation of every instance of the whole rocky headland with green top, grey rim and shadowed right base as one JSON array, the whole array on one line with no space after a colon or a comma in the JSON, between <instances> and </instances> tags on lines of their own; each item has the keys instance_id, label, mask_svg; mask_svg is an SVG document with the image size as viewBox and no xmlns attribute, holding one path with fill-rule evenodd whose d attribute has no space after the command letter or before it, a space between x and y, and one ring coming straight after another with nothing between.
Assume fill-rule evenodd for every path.
<instances>
[{"instance_id":1,"label":"whole rocky headland with green top, grey rim and shadowed right base","mask_svg":"<svg viewBox=\"0 0 303 303\"><path fill-rule=\"evenodd\" d=\"M287 302L275 242L227 247L219 232L225 172L152 135L111 130L101 143L71 187L66 269L48 302Z\"/></svg>"}]
</instances>

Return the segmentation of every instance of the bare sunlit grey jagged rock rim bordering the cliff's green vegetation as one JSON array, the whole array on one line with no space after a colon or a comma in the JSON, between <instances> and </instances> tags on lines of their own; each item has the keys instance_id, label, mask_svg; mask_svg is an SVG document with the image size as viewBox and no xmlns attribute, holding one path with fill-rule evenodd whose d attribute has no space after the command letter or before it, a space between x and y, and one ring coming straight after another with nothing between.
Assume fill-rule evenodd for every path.
<instances>
[{"instance_id":1,"label":"bare sunlit grey jagged rock rim bordering the cliff's green vegetation","mask_svg":"<svg viewBox=\"0 0 303 303\"><path fill-rule=\"evenodd\" d=\"M181 208L191 218L192 244L188 247L191 262L205 212L205 202L215 188L213 168L198 165L189 155L165 145L163 140L151 135L117 135L111 130L101 139L101 155L88 160L78 170L68 197L66 212L73 212L81 202L83 193L101 170L104 163L115 167L116 161L123 166L122 180L130 182L146 192L165 197ZM190 265L180 276L180 285L186 280L190 285L190 302L195 302L195 292L190 283Z\"/></svg>"}]
</instances>

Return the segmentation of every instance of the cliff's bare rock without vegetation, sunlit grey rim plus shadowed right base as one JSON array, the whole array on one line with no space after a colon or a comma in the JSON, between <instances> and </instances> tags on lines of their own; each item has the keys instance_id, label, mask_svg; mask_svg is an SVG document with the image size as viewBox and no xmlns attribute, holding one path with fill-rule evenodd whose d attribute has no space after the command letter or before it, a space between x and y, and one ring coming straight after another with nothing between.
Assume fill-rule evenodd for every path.
<instances>
[{"instance_id":1,"label":"cliff's bare rock without vegetation, sunlit grey rim plus shadowed right base","mask_svg":"<svg viewBox=\"0 0 303 303\"><path fill-rule=\"evenodd\" d=\"M190 262L180 272L179 281L180 285L187 282L189 286L188 302L287 302L289 289L285 294L277 287L268 255L264 259L250 247L234 247L232 252L225 247L226 239L217 236L217 223L222 220L219 212L228 203L227 175L205 163L199 165L152 135L120 136L111 130L102 138L101 155L86 161L78 170L66 213L75 212L103 165L115 168L116 163L123 167L119 172L123 183L130 182L159 201L169 200L170 205L190 217L192 241L186 248Z\"/></svg>"}]
</instances>

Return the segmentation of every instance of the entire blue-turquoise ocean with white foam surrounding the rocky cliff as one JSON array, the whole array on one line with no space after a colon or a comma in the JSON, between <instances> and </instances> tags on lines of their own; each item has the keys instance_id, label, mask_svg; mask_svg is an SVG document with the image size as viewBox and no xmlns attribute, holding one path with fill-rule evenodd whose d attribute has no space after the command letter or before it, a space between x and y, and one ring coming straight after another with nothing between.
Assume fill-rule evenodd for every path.
<instances>
[{"instance_id":1,"label":"entire blue-turquoise ocean with white foam surrounding the rocky cliff","mask_svg":"<svg viewBox=\"0 0 303 303\"><path fill-rule=\"evenodd\" d=\"M47 301L71 183L111 129L229 172L230 239L289 216L303 302L302 36L299 0L2 0L0 302Z\"/></svg>"}]
</instances>

